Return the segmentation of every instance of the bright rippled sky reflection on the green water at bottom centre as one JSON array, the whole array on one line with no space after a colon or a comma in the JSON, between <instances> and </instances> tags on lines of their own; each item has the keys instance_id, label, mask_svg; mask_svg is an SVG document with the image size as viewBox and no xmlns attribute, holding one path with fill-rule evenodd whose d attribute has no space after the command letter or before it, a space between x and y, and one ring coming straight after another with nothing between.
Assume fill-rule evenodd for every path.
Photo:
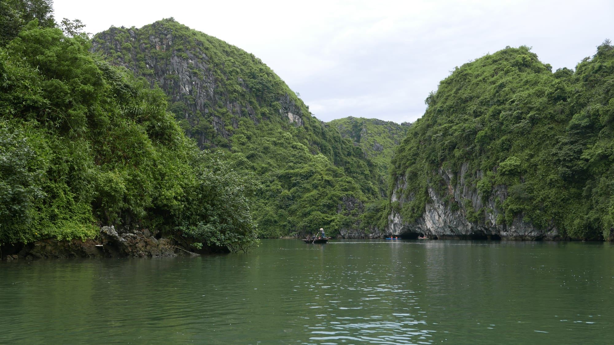
<instances>
[{"instance_id":1,"label":"bright rippled sky reflection on the green water at bottom centre","mask_svg":"<svg viewBox=\"0 0 614 345\"><path fill-rule=\"evenodd\" d=\"M371 269L379 270L378 267ZM316 323L307 327L313 335L309 339L327 341L323 344L336 344L333 340L342 339L379 344L409 343L411 339L418 339L418 343L427 341L429 330L426 321L420 318L424 312L420 311L415 292L403 290L402 284L391 284L394 274L381 277L367 268L367 271L341 272L340 276L340 281L350 284L320 285L322 293L314 295L314 302L308 303L309 308L321 308L316 311ZM316 290L317 284L327 282L309 285L309 291ZM394 308L395 305L401 307ZM373 315L373 311L391 313Z\"/></svg>"}]
</instances>

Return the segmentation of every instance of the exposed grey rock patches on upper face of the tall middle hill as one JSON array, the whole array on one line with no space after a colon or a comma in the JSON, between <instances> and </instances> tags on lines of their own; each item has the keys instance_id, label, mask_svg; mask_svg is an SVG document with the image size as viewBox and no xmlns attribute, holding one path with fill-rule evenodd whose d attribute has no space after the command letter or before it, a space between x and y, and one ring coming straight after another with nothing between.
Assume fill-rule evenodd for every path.
<instances>
[{"instance_id":1,"label":"exposed grey rock patches on upper face of the tall middle hill","mask_svg":"<svg viewBox=\"0 0 614 345\"><path fill-rule=\"evenodd\" d=\"M227 130L227 126L233 126L235 129L238 127L236 120L238 117L249 117L256 125L258 124L259 120L252 106L240 104L238 101L230 101L227 94L214 91L219 80L216 81L213 69L209 67L210 59L202 42L194 41L189 49L177 51L173 49L173 33L160 26L155 29L155 32L156 34L142 37L143 35L139 34L138 29L130 29L128 31L129 37L125 38L123 35L118 35L117 28L111 28L102 34L101 38L104 42L98 40L92 42L91 51L104 52L109 56L114 56L115 64L130 69L138 76L145 77L152 86L155 83L160 85L167 95L173 95L169 99L169 104L184 103L187 110L181 117L190 122L191 128L198 125L198 121L201 120L201 117L195 116L198 112L200 114L211 114L206 116L206 121L223 138L230 138L232 135ZM151 48L147 48L144 41L149 43L149 47L155 47L156 50L161 52L168 50L170 58L158 61L158 55L148 52L147 50ZM123 46L124 42L130 43L133 47L127 54L131 58L134 58L137 53L142 54L145 60L143 61L145 68L152 73L147 71L147 73L142 74L143 71L133 61L126 61L130 59L125 60L122 54L120 54L122 56L116 55L117 52L126 53L125 46ZM141 42L141 44L135 47L134 42ZM137 50L140 51L137 52ZM245 93L252 92L244 80L238 78L237 81ZM276 101L281 105L279 116L287 117L289 123L294 126L303 126L302 110L292 101L290 95L281 96ZM214 115L216 109L224 108L235 117L232 123L225 123L218 115ZM266 120L265 116L263 118ZM192 133L191 129L187 130L186 134L190 137L196 135ZM209 138L207 135L202 132L196 135L196 141L201 148L204 148L205 145L212 145L213 138Z\"/></svg>"}]
</instances>

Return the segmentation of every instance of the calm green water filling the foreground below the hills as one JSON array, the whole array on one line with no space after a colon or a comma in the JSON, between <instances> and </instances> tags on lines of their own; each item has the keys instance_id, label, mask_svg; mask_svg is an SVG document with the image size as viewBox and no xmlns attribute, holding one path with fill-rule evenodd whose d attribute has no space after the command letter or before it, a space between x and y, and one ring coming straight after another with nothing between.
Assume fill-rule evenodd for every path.
<instances>
[{"instance_id":1,"label":"calm green water filling the foreground below the hills","mask_svg":"<svg viewBox=\"0 0 614 345\"><path fill-rule=\"evenodd\" d=\"M265 240L0 262L1 344L608 344L614 246Z\"/></svg>"}]
</instances>

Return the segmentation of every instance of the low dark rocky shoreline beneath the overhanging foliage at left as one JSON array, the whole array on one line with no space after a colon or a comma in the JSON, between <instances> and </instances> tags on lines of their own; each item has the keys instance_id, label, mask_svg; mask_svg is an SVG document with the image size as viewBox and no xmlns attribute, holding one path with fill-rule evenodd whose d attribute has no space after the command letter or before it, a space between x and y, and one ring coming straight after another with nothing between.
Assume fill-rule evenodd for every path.
<instances>
[{"instance_id":1,"label":"low dark rocky shoreline beneath the overhanging foliage at left","mask_svg":"<svg viewBox=\"0 0 614 345\"><path fill-rule=\"evenodd\" d=\"M102 227L97 238L84 241L72 239L43 239L27 244L3 246L2 260L30 258L122 258L122 257L177 257L201 254L222 254L227 248L193 246L193 242L181 236L164 237L160 231L138 228Z\"/></svg>"}]
</instances>

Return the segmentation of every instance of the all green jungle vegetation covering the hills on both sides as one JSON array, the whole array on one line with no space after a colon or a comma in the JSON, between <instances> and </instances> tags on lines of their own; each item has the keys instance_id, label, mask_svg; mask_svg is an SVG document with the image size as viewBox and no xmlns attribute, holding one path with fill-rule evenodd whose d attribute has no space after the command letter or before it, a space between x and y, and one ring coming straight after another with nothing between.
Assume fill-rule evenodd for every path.
<instances>
[{"instance_id":1,"label":"all green jungle vegetation covering the hills on both sides","mask_svg":"<svg viewBox=\"0 0 614 345\"><path fill-rule=\"evenodd\" d=\"M0 244L91 238L101 225L232 250L320 227L366 235L392 209L418 219L428 188L457 209L440 171L455 185L461 166L481 198L505 188L498 224L612 238L610 41L575 71L524 46L478 58L411 126L323 123L254 55L173 18L89 39L50 9L0 4ZM408 202L391 203L402 178ZM493 210L470 211L480 223Z\"/></svg>"}]
</instances>

